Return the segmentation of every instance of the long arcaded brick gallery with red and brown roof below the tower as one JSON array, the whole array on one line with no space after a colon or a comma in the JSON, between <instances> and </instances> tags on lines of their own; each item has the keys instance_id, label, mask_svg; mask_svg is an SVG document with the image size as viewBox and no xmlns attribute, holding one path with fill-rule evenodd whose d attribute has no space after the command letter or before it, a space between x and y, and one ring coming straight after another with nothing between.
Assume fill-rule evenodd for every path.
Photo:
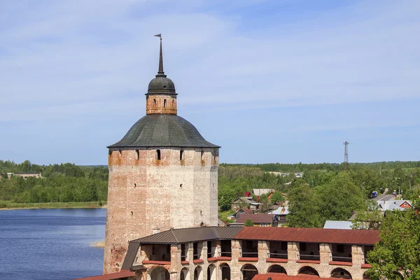
<instances>
[{"instance_id":1,"label":"long arcaded brick gallery with red and brown roof below the tower","mask_svg":"<svg viewBox=\"0 0 420 280\"><path fill-rule=\"evenodd\" d=\"M377 230L172 229L130 241L120 279L362 280L378 241Z\"/></svg>"}]
</instances>

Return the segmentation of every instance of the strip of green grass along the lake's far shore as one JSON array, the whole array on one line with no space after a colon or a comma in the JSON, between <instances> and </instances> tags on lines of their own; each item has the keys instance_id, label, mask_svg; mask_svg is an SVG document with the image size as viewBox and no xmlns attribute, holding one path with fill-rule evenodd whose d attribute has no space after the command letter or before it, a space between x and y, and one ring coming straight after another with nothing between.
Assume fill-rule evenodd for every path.
<instances>
[{"instance_id":1,"label":"strip of green grass along the lake's far shore","mask_svg":"<svg viewBox=\"0 0 420 280\"><path fill-rule=\"evenodd\" d=\"M0 209L101 208L106 202L15 203L0 201Z\"/></svg>"}]
</instances>

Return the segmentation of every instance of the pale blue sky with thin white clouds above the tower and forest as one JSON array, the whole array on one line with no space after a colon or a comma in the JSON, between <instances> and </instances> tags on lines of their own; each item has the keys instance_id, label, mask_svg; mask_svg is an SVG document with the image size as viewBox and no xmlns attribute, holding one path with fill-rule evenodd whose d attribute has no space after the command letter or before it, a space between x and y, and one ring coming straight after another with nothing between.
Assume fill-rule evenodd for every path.
<instances>
[{"instance_id":1,"label":"pale blue sky with thin white clouds above the tower and forest","mask_svg":"<svg viewBox=\"0 0 420 280\"><path fill-rule=\"evenodd\" d=\"M420 160L418 0L0 1L0 160L106 165L164 69L221 162Z\"/></svg>"}]
</instances>

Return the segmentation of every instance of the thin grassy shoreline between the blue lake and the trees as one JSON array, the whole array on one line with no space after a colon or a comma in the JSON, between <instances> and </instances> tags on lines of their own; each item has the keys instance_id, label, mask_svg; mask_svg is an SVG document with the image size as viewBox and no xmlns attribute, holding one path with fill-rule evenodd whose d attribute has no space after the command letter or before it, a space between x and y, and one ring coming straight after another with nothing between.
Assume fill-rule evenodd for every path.
<instances>
[{"instance_id":1,"label":"thin grassy shoreline between the blue lake and the trees","mask_svg":"<svg viewBox=\"0 0 420 280\"><path fill-rule=\"evenodd\" d=\"M100 209L106 208L106 203L102 202L48 202L48 203L10 203L10 207L1 207L4 210L20 210L20 209Z\"/></svg>"}]
</instances>

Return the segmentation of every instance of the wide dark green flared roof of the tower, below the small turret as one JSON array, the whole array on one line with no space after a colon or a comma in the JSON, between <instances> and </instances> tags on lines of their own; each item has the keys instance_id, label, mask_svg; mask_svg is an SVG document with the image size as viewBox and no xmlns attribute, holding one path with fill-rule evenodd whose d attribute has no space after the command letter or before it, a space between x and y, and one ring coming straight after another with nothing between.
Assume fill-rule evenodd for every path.
<instances>
[{"instance_id":1,"label":"wide dark green flared roof of the tower, below the small turret","mask_svg":"<svg viewBox=\"0 0 420 280\"><path fill-rule=\"evenodd\" d=\"M207 142L184 118L173 114L152 114L141 118L125 137L108 148L197 147L220 148Z\"/></svg>"}]
</instances>

